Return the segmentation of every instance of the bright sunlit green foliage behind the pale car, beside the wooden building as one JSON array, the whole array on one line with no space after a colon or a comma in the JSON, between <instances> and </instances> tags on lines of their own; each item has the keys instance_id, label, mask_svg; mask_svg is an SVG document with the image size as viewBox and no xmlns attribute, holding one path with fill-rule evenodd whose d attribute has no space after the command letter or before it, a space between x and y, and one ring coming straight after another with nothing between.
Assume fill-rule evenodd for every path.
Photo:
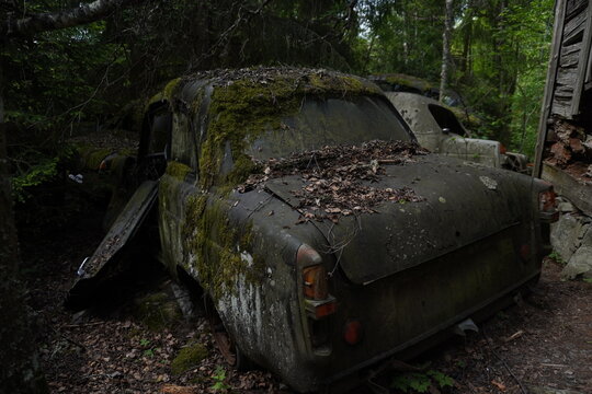
<instances>
[{"instance_id":1,"label":"bright sunlit green foliage behind the pale car, beside the wooden building","mask_svg":"<svg viewBox=\"0 0 592 394\"><path fill-rule=\"evenodd\" d=\"M533 155L551 40L553 0L454 1L452 85L480 138ZM352 48L363 73L402 72L437 82L444 1L365 0ZM434 89L439 85L435 83Z\"/></svg>"}]
</instances>

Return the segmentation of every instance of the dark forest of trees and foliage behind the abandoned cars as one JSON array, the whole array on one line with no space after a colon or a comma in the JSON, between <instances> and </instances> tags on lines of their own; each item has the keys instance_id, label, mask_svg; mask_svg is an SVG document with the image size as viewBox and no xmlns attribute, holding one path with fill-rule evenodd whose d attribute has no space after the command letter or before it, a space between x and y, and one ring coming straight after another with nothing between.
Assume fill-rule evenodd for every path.
<instances>
[{"instance_id":1,"label":"dark forest of trees and foliage behind the abandoned cars","mask_svg":"<svg viewBox=\"0 0 592 394\"><path fill-rule=\"evenodd\" d=\"M448 88L480 119L477 135L532 157L553 0L452 3ZM360 76L405 73L440 85L442 0L126 5L93 23L3 39L1 93L18 199L55 176L59 160L69 154L64 139L81 129L121 127L134 103L191 71L296 65ZM68 0L4 0L0 19L76 7Z\"/></svg>"}]
</instances>

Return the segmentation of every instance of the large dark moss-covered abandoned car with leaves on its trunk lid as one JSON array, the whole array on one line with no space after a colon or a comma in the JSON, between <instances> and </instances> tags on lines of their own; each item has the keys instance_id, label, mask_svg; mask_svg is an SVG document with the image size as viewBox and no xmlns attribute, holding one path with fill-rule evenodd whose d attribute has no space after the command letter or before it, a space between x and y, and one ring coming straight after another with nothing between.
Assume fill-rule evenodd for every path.
<instances>
[{"instance_id":1,"label":"large dark moss-covered abandoned car with leaves on its trunk lid","mask_svg":"<svg viewBox=\"0 0 592 394\"><path fill-rule=\"evenodd\" d=\"M549 184L429 153L376 85L327 70L172 81L137 166L145 182L70 303L84 308L156 204L159 257L203 289L227 360L299 392L506 305L537 280L555 211Z\"/></svg>"}]
</instances>

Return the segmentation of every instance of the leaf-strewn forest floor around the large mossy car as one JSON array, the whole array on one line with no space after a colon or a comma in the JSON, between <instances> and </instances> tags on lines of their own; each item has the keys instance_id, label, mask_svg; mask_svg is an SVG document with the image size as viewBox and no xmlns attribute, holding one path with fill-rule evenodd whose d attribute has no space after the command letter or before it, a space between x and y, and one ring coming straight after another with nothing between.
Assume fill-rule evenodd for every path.
<instances>
[{"instance_id":1,"label":"leaf-strewn forest floor around the large mossy car","mask_svg":"<svg viewBox=\"0 0 592 394\"><path fill-rule=\"evenodd\" d=\"M76 270L101 241L99 222L87 215L67 230L21 236L36 340L53 393L289 393L269 372L226 367L203 317L150 329L129 301L134 297L91 314L67 311L62 303ZM485 322L478 334L410 361L423 371L386 371L376 381L407 382L432 394L591 393L592 285L561 281L560 269L546 259L531 297ZM135 291L146 294L146 289L144 283ZM175 374L173 360L187 344L200 345L202 359ZM368 385L352 391L358 392L373 391Z\"/></svg>"}]
</instances>

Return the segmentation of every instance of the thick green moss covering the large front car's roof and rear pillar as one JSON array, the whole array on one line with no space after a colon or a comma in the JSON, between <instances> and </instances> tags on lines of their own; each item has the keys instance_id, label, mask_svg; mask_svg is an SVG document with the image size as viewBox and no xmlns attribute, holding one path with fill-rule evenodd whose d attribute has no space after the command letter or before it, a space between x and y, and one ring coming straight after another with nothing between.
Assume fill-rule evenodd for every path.
<instances>
[{"instance_id":1,"label":"thick green moss covering the large front car's roof and rear pillar","mask_svg":"<svg viewBox=\"0 0 592 394\"><path fill-rule=\"evenodd\" d=\"M360 77L325 69L258 67L202 71L169 82L148 106L166 101L193 119L200 143L200 178L204 187L238 184L252 171L244 148L262 132L282 127L282 119L297 113L304 97L354 99L384 96L374 83ZM206 128L202 125L207 125ZM234 170L220 177L227 143Z\"/></svg>"}]
</instances>

